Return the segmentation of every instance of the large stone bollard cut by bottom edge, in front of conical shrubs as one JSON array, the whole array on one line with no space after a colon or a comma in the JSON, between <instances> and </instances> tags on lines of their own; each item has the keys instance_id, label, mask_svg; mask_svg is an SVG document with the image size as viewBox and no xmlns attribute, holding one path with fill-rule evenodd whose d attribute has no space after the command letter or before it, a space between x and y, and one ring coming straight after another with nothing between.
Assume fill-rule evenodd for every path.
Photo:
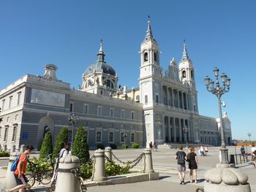
<instances>
[{"instance_id":1,"label":"large stone bollard cut by bottom edge, in front of conical shrubs","mask_svg":"<svg viewBox=\"0 0 256 192\"><path fill-rule=\"evenodd\" d=\"M73 170L80 168L79 158L67 155L59 160L56 192L80 191L80 182Z\"/></svg>"}]
</instances>

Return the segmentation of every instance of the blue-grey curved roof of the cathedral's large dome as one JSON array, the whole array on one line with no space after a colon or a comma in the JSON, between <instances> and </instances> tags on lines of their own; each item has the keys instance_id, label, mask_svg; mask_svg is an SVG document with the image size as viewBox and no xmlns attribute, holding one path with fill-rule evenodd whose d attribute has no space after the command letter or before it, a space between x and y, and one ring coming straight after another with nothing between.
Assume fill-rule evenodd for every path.
<instances>
[{"instance_id":1,"label":"blue-grey curved roof of the cathedral's large dome","mask_svg":"<svg viewBox=\"0 0 256 192\"><path fill-rule=\"evenodd\" d=\"M116 72L112 66L105 63L105 61L96 61L94 64L89 66L84 72L84 75L91 74L93 72L103 72L115 76Z\"/></svg>"}]
</instances>

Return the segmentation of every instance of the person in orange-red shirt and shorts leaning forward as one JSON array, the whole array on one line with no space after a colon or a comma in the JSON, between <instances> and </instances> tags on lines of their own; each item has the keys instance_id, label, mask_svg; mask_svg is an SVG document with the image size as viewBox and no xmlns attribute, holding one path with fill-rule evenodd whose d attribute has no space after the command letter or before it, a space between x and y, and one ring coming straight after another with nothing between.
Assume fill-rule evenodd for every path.
<instances>
[{"instance_id":1,"label":"person in orange-red shirt and shorts leaning forward","mask_svg":"<svg viewBox=\"0 0 256 192\"><path fill-rule=\"evenodd\" d=\"M27 180L25 177L26 164L28 163L28 158L32 150L34 150L34 147L31 145L28 145L26 146L25 152L20 155L17 169L14 172L15 180L18 186L16 186L15 188L11 188L10 190L7 190L7 192L12 192L12 191L24 192L25 191L25 188L27 187L27 184L26 184Z\"/></svg>"}]
</instances>

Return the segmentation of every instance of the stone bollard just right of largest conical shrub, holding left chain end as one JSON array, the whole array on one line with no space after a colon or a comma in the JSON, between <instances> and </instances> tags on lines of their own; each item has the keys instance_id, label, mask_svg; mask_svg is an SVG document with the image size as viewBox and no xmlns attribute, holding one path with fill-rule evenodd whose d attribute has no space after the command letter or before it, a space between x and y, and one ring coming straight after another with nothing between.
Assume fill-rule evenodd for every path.
<instances>
[{"instance_id":1,"label":"stone bollard just right of largest conical shrub, holding left chain end","mask_svg":"<svg viewBox=\"0 0 256 192\"><path fill-rule=\"evenodd\" d=\"M105 165L105 153L104 150L95 150L95 165L94 165L94 175L93 181L103 181L106 180L106 165Z\"/></svg>"}]
</instances>

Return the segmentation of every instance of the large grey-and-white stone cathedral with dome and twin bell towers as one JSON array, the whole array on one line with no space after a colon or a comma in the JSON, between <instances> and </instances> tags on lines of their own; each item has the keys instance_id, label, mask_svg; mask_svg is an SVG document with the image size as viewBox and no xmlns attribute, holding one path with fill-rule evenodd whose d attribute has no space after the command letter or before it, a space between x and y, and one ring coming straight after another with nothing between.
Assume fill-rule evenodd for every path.
<instances>
[{"instance_id":1,"label":"large grey-and-white stone cathedral with dome and twin bell towers","mask_svg":"<svg viewBox=\"0 0 256 192\"><path fill-rule=\"evenodd\" d=\"M55 141L62 127L69 142L83 126L91 149L97 144L120 147L136 142L220 145L219 119L199 115L195 69L184 42L181 60L173 58L164 72L159 46L148 20L140 45L138 88L118 85L107 63L102 42L97 61L82 74L76 90L57 77L58 67L45 66L43 75L26 74L0 91L0 144L33 145L39 150L47 131ZM230 120L223 115L225 140L232 140ZM74 131L73 131L74 130Z\"/></svg>"}]
</instances>

